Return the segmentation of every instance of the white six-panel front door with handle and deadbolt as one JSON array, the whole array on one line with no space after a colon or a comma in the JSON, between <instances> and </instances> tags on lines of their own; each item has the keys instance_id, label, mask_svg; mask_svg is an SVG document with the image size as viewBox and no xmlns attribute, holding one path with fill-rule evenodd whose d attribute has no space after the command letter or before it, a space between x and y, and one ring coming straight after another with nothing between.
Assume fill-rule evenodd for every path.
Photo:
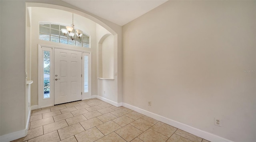
<instances>
[{"instance_id":1,"label":"white six-panel front door with handle and deadbolt","mask_svg":"<svg viewBox=\"0 0 256 142\"><path fill-rule=\"evenodd\" d=\"M54 49L54 105L82 100L82 52Z\"/></svg>"}]
</instances>

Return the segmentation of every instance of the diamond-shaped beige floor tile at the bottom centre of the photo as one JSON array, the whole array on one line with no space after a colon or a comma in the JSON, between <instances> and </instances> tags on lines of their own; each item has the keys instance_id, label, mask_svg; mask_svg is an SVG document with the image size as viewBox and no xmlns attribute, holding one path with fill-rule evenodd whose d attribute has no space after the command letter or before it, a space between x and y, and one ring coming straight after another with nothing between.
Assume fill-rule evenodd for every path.
<instances>
[{"instance_id":1,"label":"diamond-shaped beige floor tile at the bottom centre of the photo","mask_svg":"<svg viewBox=\"0 0 256 142\"><path fill-rule=\"evenodd\" d=\"M116 130L115 132L116 132L116 134L118 134L119 136L124 138L124 140L126 140L127 142L130 142L131 140L133 140L134 138L136 138L137 136L139 136L142 133L141 130L135 128L134 126L132 126L130 124L124 126L123 128Z\"/></svg>"}]
</instances>

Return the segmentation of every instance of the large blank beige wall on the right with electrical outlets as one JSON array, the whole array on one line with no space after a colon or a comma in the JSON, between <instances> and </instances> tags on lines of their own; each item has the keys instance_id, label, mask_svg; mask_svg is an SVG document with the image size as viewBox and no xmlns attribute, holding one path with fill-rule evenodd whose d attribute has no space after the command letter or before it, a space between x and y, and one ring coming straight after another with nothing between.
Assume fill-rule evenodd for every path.
<instances>
[{"instance_id":1,"label":"large blank beige wall on the right with electrical outlets","mask_svg":"<svg viewBox=\"0 0 256 142\"><path fill-rule=\"evenodd\" d=\"M255 5L168 1L124 25L123 102L229 140L255 141L256 73L246 72L256 70Z\"/></svg>"}]
</instances>

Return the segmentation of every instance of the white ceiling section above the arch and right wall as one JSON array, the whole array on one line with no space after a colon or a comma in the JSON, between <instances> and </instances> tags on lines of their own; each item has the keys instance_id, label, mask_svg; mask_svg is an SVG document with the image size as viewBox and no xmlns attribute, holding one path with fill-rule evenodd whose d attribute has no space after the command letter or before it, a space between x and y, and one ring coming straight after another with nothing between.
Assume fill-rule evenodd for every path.
<instances>
[{"instance_id":1,"label":"white ceiling section above the arch and right wall","mask_svg":"<svg viewBox=\"0 0 256 142\"><path fill-rule=\"evenodd\" d=\"M123 26L167 0L62 0Z\"/></svg>"}]
</instances>

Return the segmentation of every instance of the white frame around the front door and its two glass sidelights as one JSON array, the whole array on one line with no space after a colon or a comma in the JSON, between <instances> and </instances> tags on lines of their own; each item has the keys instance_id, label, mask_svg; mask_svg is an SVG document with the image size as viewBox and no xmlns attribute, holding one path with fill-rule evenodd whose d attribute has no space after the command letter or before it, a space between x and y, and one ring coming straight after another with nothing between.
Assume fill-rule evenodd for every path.
<instances>
[{"instance_id":1,"label":"white frame around the front door and its two glass sidelights","mask_svg":"<svg viewBox=\"0 0 256 142\"><path fill-rule=\"evenodd\" d=\"M82 100L90 99L92 98L92 52L91 51L85 51L85 50L79 50L79 49L73 49L73 48L65 48L65 47L59 47L59 46L50 46L50 45L43 45L38 44L38 108L45 108L49 106L54 106L54 48L64 49L64 50L73 50L73 51L80 51L82 52L82 74L84 76L84 53L89 54L89 78L88 78L88 92L89 94L84 94L84 89L82 89ZM43 64L43 50L51 51L50 54L50 82L53 82L50 84L50 98L47 98L47 105L44 104L44 98L42 96L44 95L43 92L43 70L44 70L44 64ZM82 78L82 88L84 85L84 78Z\"/></svg>"}]
</instances>

